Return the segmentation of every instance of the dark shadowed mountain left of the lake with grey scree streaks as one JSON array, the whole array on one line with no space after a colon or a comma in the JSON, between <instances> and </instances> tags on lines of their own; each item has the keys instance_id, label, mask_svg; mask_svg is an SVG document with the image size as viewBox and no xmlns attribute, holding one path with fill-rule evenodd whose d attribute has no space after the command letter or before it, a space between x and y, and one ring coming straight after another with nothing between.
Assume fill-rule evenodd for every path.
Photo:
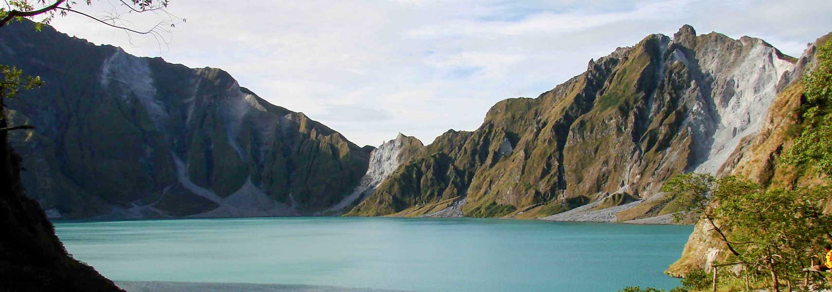
<instances>
[{"instance_id":1,"label":"dark shadowed mountain left of the lake with grey scree streaks","mask_svg":"<svg viewBox=\"0 0 832 292\"><path fill-rule=\"evenodd\" d=\"M364 176L360 148L226 72L96 47L31 22L0 62L46 81L9 102L23 185L53 218L301 215Z\"/></svg>"}]
</instances>

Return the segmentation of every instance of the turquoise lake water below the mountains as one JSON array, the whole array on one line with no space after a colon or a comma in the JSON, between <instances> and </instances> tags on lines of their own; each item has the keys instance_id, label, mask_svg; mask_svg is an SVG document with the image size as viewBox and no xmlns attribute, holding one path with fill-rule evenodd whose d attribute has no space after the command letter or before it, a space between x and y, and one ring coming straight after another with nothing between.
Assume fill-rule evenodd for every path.
<instances>
[{"instance_id":1,"label":"turquoise lake water below the mountains","mask_svg":"<svg viewBox=\"0 0 832 292\"><path fill-rule=\"evenodd\" d=\"M295 217L57 222L111 280L408 291L670 289L692 226Z\"/></svg>"}]
</instances>

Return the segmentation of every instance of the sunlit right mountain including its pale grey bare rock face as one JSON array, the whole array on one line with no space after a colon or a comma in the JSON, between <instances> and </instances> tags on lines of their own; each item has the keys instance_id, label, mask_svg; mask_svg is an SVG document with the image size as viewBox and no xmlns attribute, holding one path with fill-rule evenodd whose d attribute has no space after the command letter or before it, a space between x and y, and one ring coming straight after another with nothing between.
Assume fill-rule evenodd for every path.
<instances>
[{"instance_id":1,"label":"sunlit right mountain including its pale grey bare rock face","mask_svg":"<svg viewBox=\"0 0 832 292\"><path fill-rule=\"evenodd\" d=\"M794 62L760 39L690 26L647 36L540 97L498 102L476 131L439 136L352 214L425 215L453 199L469 216L533 218L608 195L649 199L676 174L715 173L760 129Z\"/></svg>"}]
</instances>

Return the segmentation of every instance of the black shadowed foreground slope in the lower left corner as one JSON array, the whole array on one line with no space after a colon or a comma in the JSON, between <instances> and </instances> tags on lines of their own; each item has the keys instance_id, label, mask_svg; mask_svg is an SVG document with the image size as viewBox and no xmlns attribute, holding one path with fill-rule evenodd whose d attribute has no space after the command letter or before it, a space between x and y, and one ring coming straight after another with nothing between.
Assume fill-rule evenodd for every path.
<instances>
[{"instance_id":1,"label":"black shadowed foreground slope in the lower left corner","mask_svg":"<svg viewBox=\"0 0 832 292\"><path fill-rule=\"evenodd\" d=\"M20 162L0 131L0 291L121 291L67 254L46 214L24 195Z\"/></svg>"}]
</instances>

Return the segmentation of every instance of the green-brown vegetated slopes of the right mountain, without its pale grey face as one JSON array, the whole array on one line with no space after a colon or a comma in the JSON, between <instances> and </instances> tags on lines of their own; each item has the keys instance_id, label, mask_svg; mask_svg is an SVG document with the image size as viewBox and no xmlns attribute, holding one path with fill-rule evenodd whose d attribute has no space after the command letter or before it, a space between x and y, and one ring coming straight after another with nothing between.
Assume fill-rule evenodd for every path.
<instances>
[{"instance_id":1,"label":"green-brown vegetated slopes of the right mountain, without its pale grey face","mask_svg":"<svg viewBox=\"0 0 832 292\"><path fill-rule=\"evenodd\" d=\"M399 214L459 195L465 200L463 215L539 218L588 203L570 200L581 196L657 194L656 182L696 166L701 162L696 157L705 155L693 142L703 138L686 126L710 94L698 84L711 77L696 56L717 51L716 58L735 62L749 46L717 33L697 37L687 26L674 37L678 41L647 36L634 47L592 60L586 72L537 98L499 101L476 131L439 136L349 215ZM442 160L430 157L440 153ZM433 176L423 176L428 172ZM678 208L666 207L672 200L651 201L660 205L625 217ZM515 210L483 212L494 205Z\"/></svg>"}]
</instances>

